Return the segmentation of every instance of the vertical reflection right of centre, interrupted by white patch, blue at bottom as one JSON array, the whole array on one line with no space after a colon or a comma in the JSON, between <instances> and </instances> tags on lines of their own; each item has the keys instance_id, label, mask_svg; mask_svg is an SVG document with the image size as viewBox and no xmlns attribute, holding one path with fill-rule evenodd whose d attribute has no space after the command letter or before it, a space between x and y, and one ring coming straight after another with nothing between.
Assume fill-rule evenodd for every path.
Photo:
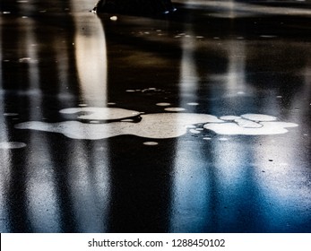
<instances>
[{"instance_id":1,"label":"vertical reflection right of centre, interrupted by white patch, blue at bottom","mask_svg":"<svg viewBox=\"0 0 311 251\"><path fill-rule=\"evenodd\" d=\"M191 34L192 32L187 32ZM195 102L198 90L198 75L194 61L195 43L193 34L183 38L183 53L179 80L179 106L185 108L189 102ZM195 107L187 108L194 112ZM172 181L170 232L192 232L203 229L208 217L209 180L206 168L200 166L197 154L203 151L188 151L188 145L177 139L174 177ZM187 144L187 143L186 143ZM204 159L204 156L202 156ZM195 212L195 213L193 213ZM191 215L191 216L190 216ZM194 216L195 215L195 216Z\"/></svg>"}]
</instances>

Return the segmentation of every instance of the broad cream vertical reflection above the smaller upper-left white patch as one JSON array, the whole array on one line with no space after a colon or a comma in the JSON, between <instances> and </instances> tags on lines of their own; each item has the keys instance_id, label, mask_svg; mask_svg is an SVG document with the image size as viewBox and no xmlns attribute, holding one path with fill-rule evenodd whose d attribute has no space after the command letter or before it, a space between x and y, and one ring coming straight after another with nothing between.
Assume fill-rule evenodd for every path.
<instances>
[{"instance_id":1,"label":"broad cream vertical reflection above the smaller upper-left white patch","mask_svg":"<svg viewBox=\"0 0 311 251\"><path fill-rule=\"evenodd\" d=\"M73 11L78 7L73 2ZM88 20L91 19L91 23ZM76 66L82 102L89 106L107 106L107 52L105 33L99 18L92 14L74 16Z\"/></svg>"}]
</instances>

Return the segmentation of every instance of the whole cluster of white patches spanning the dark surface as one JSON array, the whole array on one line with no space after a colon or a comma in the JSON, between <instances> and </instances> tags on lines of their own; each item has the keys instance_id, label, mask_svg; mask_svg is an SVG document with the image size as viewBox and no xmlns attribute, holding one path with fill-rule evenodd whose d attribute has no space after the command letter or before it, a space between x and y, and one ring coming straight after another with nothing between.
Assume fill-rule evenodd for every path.
<instances>
[{"instance_id":1,"label":"whole cluster of white patches spanning the dark surface","mask_svg":"<svg viewBox=\"0 0 311 251\"><path fill-rule=\"evenodd\" d=\"M227 135L285 134L288 132L287 127L298 126L262 114L218 118L208 114L176 112L143 114L122 108L66 108L60 113L75 115L77 120L59 123L30 121L17 124L15 127L64 134L73 139L99 140L124 134L152 139L176 138L187 132L194 133L194 130L191 131L189 128L197 124L203 125L200 130L212 130L216 134ZM133 123L129 117L141 117L141 120ZM83 122L78 119L82 119ZM116 119L118 121L115 121ZM110 123L106 123L108 120L111 120ZM199 132L195 131L196 133Z\"/></svg>"}]
</instances>

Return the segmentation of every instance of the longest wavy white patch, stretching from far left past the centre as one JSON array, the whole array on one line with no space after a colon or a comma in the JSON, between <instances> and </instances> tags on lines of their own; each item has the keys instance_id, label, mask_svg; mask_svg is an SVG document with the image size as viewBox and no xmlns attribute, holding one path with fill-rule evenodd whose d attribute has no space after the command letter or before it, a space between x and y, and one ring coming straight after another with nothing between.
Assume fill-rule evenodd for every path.
<instances>
[{"instance_id":1,"label":"longest wavy white patch, stretching from far left past the centre","mask_svg":"<svg viewBox=\"0 0 311 251\"><path fill-rule=\"evenodd\" d=\"M167 139L186 134L187 125L219 122L222 121L217 117L206 114L160 113L142 115L142 120L139 123L87 124L79 121L59 123L30 121L15 125L15 128L64 134L73 139L99 140L125 134L145 138Z\"/></svg>"}]
</instances>

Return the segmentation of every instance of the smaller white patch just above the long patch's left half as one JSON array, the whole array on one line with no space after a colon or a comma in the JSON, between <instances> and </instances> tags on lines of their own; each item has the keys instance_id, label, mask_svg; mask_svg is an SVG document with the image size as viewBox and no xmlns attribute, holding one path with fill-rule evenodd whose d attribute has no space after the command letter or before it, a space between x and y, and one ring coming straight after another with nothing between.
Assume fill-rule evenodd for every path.
<instances>
[{"instance_id":1,"label":"smaller white patch just above the long patch's left half","mask_svg":"<svg viewBox=\"0 0 311 251\"><path fill-rule=\"evenodd\" d=\"M138 116L140 112L123 108L65 108L60 110L63 114L75 114L79 112L90 113L88 115L78 116L86 120L111 120L121 119L124 117Z\"/></svg>"}]
</instances>

